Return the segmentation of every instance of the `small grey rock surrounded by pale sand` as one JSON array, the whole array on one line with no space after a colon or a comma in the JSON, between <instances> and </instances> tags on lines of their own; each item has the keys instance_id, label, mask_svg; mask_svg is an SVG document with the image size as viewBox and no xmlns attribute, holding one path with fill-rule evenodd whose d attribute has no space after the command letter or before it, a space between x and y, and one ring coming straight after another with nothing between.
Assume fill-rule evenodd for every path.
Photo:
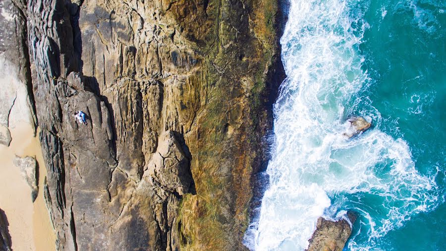
<instances>
[{"instance_id":1,"label":"small grey rock surrounded by pale sand","mask_svg":"<svg viewBox=\"0 0 446 251\"><path fill-rule=\"evenodd\" d=\"M37 174L38 167L36 159L31 156L27 157L15 156L13 163L16 167L20 168L20 172L22 174L23 179L31 188L31 199L34 202L39 192L39 187L38 187L39 181Z\"/></svg>"}]
</instances>

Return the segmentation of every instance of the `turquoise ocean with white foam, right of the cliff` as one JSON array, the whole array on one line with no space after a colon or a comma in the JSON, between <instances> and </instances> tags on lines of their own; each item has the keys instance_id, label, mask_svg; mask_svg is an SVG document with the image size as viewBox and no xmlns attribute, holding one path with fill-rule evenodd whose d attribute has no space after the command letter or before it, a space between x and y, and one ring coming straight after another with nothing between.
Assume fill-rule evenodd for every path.
<instances>
[{"instance_id":1,"label":"turquoise ocean with white foam, right of the cliff","mask_svg":"<svg viewBox=\"0 0 446 251\"><path fill-rule=\"evenodd\" d=\"M318 217L344 250L446 250L446 1L291 0L286 72L250 250L305 250ZM362 116L372 128L342 135Z\"/></svg>"}]
</instances>

